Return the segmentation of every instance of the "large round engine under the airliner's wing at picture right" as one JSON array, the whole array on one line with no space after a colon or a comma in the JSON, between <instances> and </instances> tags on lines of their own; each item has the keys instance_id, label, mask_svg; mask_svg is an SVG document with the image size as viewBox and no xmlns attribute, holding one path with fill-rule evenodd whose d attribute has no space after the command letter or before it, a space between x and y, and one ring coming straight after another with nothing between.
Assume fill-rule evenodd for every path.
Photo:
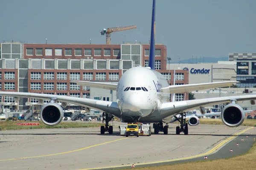
<instances>
[{"instance_id":1,"label":"large round engine under the airliner's wing at picture right","mask_svg":"<svg viewBox=\"0 0 256 170\"><path fill-rule=\"evenodd\" d=\"M229 104L221 111L222 122L229 127L238 127L244 122L244 109L237 104Z\"/></svg>"}]
</instances>

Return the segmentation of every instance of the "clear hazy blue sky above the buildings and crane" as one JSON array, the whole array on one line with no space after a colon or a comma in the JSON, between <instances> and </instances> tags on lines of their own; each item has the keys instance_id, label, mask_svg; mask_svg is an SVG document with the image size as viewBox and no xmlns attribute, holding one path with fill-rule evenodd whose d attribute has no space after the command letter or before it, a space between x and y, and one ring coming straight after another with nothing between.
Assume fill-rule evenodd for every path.
<instances>
[{"instance_id":1,"label":"clear hazy blue sky above the buildings and crane","mask_svg":"<svg viewBox=\"0 0 256 170\"><path fill-rule=\"evenodd\" d=\"M102 28L137 25L112 33L111 44L148 42L152 0L2 0L0 41L105 44ZM256 52L256 0L157 0L156 43L172 61Z\"/></svg>"}]
</instances>

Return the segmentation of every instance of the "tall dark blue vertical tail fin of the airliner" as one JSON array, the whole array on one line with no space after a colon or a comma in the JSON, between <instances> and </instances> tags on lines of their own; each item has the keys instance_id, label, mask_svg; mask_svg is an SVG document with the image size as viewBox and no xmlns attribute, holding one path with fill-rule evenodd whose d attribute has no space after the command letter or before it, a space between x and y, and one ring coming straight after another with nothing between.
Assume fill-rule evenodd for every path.
<instances>
[{"instance_id":1,"label":"tall dark blue vertical tail fin of the airliner","mask_svg":"<svg viewBox=\"0 0 256 170\"><path fill-rule=\"evenodd\" d=\"M152 70L155 69L155 32L156 32L155 31L155 28L156 28L155 10L156 10L156 1L153 0L151 38L150 38L150 49L149 49L149 67Z\"/></svg>"}]
</instances>

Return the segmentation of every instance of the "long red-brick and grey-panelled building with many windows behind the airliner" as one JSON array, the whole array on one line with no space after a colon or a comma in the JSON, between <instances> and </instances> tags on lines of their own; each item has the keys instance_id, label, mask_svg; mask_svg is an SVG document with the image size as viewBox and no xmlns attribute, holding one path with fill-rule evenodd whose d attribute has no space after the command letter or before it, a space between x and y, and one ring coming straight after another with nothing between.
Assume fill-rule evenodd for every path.
<instances>
[{"instance_id":1,"label":"long red-brick and grey-panelled building with many windows behind the airliner","mask_svg":"<svg viewBox=\"0 0 256 170\"><path fill-rule=\"evenodd\" d=\"M149 45L1 43L0 90L116 101L116 92L76 85L72 80L117 83L126 70L148 66ZM173 85L188 84L189 71L166 69L166 46L156 45L155 69ZM175 94L176 101L188 94ZM49 101L44 101L47 103ZM0 97L4 108L40 110L42 101ZM81 109L68 104L68 108Z\"/></svg>"}]
</instances>

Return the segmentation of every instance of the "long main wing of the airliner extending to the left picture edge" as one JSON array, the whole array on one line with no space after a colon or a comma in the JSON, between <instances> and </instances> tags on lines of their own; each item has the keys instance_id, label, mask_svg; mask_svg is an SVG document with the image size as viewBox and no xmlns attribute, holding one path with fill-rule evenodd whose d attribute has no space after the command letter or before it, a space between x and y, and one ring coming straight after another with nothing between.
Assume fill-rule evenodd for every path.
<instances>
[{"instance_id":1,"label":"long main wing of the airliner extending to the left picture edge","mask_svg":"<svg viewBox=\"0 0 256 170\"><path fill-rule=\"evenodd\" d=\"M121 115L121 112L118 108L117 103L110 102L110 101L86 99L86 98L71 97L71 96L60 96L60 95L52 95L52 94L5 92L5 91L0 91L0 96L35 98L35 99L43 99L43 100L56 99L58 102L67 102L67 103L84 106L87 108L93 108L98 111L105 111L113 114L116 117L120 117Z\"/></svg>"}]
</instances>

